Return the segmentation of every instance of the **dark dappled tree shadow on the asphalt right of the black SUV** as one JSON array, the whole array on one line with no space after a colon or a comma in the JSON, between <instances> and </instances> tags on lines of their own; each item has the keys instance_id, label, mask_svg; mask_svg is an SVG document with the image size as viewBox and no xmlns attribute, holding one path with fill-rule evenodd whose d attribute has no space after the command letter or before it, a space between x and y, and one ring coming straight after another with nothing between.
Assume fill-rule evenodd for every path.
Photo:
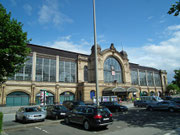
<instances>
[{"instance_id":1,"label":"dark dappled tree shadow on the asphalt right of the black SUV","mask_svg":"<svg viewBox=\"0 0 180 135\"><path fill-rule=\"evenodd\" d=\"M114 121L124 121L132 127L153 127L161 130L175 130L180 127L180 112L147 111L132 108L127 113L113 114Z\"/></svg>"}]
</instances>

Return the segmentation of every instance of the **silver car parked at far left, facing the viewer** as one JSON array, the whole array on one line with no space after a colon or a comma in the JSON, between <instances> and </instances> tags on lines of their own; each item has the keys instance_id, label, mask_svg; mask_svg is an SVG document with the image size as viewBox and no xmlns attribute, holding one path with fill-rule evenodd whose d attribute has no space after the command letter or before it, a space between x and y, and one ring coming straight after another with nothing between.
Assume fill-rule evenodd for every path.
<instances>
[{"instance_id":1,"label":"silver car parked at far left, facing the viewer","mask_svg":"<svg viewBox=\"0 0 180 135\"><path fill-rule=\"evenodd\" d=\"M16 112L15 120L22 121L23 123L29 121L44 121L46 113L41 110L40 107L31 106L31 107L21 107Z\"/></svg>"}]
</instances>

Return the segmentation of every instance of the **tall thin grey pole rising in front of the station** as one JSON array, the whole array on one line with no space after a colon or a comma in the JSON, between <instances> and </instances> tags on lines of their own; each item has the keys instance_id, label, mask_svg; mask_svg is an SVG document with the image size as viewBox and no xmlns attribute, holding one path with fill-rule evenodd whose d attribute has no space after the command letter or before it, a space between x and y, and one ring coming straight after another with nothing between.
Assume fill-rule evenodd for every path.
<instances>
[{"instance_id":1,"label":"tall thin grey pole rising in front of the station","mask_svg":"<svg viewBox=\"0 0 180 135\"><path fill-rule=\"evenodd\" d=\"M95 0L93 0L93 20L94 20L94 48L95 48L95 74L96 74L96 104L99 106L99 82L98 82L98 60L97 60L97 43L96 43Z\"/></svg>"}]
</instances>

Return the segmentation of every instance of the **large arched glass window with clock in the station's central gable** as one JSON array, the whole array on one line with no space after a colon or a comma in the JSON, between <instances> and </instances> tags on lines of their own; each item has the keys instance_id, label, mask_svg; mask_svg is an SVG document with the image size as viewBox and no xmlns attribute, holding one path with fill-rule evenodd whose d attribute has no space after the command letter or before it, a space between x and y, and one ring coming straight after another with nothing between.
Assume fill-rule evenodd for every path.
<instances>
[{"instance_id":1,"label":"large arched glass window with clock in the station's central gable","mask_svg":"<svg viewBox=\"0 0 180 135\"><path fill-rule=\"evenodd\" d=\"M122 83L122 68L119 62L113 58L108 57L104 62L104 82Z\"/></svg>"}]
</instances>

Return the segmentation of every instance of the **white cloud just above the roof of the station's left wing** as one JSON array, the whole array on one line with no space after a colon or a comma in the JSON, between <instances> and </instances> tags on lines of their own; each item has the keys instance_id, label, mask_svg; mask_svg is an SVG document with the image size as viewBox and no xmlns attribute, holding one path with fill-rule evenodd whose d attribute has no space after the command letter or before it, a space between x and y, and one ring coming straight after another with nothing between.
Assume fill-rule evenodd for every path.
<instances>
[{"instance_id":1,"label":"white cloud just above the roof of the station's left wing","mask_svg":"<svg viewBox=\"0 0 180 135\"><path fill-rule=\"evenodd\" d=\"M61 37L59 40L52 43L46 43L46 46L87 55L90 54L91 50L90 43L85 39L81 39L79 43L74 43L71 41L71 35Z\"/></svg>"}]
</instances>

